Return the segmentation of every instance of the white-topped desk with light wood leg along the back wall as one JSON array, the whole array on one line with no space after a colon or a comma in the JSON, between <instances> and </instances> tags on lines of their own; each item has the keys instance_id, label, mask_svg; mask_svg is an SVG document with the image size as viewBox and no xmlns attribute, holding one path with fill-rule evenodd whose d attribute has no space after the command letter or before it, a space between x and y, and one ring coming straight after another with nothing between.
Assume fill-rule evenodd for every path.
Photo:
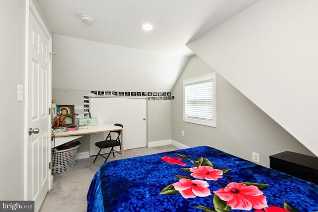
<instances>
[{"instance_id":1,"label":"white-topped desk with light wood leg along the back wall","mask_svg":"<svg viewBox=\"0 0 318 212\"><path fill-rule=\"evenodd\" d=\"M84 129L79 129L79 130L75 130L75 131L56 131L54 132L54 136L56 139L58 138L63 138L63 137L70 137L70 138L65 138L64 141L68 142L68 141L73 141L75 138L73 139L73 136L83 136L86 134L93 134L93 133L104 133L104 132L110 132L110 131L117 131L120 130L121 131L121 158L124 158L124 130L123 128L116 126L116 125L110 125L110 124L106 124L106 123L98 123L98 125L96 126L87 126L87 128ZM62 141L62 140L61 140ZM62 141L63 142L63 141ZM66 143L64 142L64 143ZM59 142L60 143L60 142ZM63 143L61 143L63 144ZM61 145L59 144L59 145ZM56 144L57 146L57 144Z\"/></svg>"}]
</instances>

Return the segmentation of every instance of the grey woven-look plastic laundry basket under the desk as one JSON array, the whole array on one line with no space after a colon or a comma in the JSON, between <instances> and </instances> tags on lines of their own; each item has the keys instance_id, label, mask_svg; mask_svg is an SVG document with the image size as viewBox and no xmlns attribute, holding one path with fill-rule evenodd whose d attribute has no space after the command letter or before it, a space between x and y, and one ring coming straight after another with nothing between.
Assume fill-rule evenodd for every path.
<instances>
[{"instance_id":1,"label":"grey woven-look plastic laundry basket under the desk","mask_svg":"<svg viewBox=\"0 0 318 212\"><path fill-rule=\"evenodd\" d=\"M79 144L80 145L80 144ZM63 150L52 150L52 174L58 174L72 169L79 145Z\"/></svg>"}]
</instances>

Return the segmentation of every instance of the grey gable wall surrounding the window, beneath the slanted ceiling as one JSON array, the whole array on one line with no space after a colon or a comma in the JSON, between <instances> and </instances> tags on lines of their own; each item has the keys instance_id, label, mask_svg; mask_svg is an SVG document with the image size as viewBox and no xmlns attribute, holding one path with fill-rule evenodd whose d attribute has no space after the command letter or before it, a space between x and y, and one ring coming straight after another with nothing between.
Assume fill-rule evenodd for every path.
<instances>
[{"instance_id":1,"label":"grey gable wall surrounding the window, beneath the slanted ceiling","mask_svg":"<svg viewBox=\"0 0 318 212\"><path fill-rule=\"evenodd\" d=\"M252 159L258 152L260 163L269 166L269 155L294 151L313 155L299 141L268 117L221 75L216 74L217 128L182 121L182 81L215 72L199 57L190 58L172 93L171 137L187 146L208 145L225 152ZM184 131L184 137L181 136Z\"/></svg>"}]
</instances>

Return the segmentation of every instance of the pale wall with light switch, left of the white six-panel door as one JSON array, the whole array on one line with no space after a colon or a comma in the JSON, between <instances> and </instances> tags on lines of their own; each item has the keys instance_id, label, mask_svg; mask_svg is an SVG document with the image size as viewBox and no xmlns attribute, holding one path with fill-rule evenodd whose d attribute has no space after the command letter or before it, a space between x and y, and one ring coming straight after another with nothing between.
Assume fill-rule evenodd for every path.
<instances>
[{"instance_id":1,"label":"pale wall with light switch, left of the white six-panel door","mask_svg":"<svg viewBox=\"0 0 318 212\"><path fill-rule=\"evenodd\" d=\"M0 25L0 200L23 200L24 102L17 101L17 84L24 85L25 1L2 0ZM8 21L10 20L10 21Z\"/></svg>"}]
</instances>

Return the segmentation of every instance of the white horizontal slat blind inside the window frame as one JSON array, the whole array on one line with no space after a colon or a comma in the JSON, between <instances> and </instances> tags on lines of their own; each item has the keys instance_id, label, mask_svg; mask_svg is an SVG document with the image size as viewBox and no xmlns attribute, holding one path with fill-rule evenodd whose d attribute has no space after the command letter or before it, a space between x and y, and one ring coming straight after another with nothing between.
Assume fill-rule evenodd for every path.
<instances>
[{"instance_id":1,"label":"white horizontal slat blind inside the window frame","mask_svg":"<svg viewBox=\"0 0 318 212\"><path fill-rule=\"evenodd\" d=\"M185 84L185 116L213 120L213 81Z\"/></svg>"}]
</instances>

